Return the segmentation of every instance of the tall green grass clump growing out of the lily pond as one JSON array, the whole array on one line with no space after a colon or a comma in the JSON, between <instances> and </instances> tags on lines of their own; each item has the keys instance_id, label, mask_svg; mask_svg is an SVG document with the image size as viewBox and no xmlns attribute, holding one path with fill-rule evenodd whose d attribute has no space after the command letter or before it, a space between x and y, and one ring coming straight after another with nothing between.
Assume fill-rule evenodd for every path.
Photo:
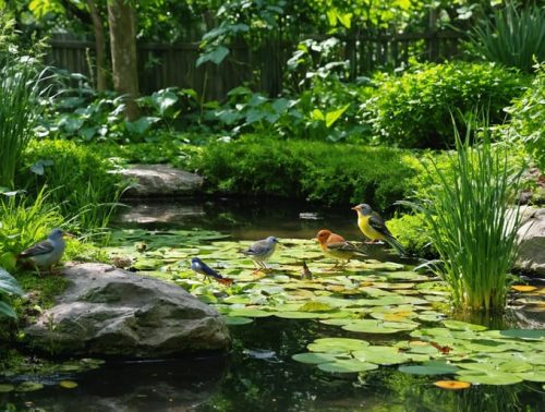
<instances>
[{"instance_id":1,"label":"tall green grass clump growing out of the lily pond","mask_svg":"<svg viewBox=\"0 0 545 412\"><path fill-rule=\"evenodd\" d=\"M432 161L427 179L439 183L419 208L444 263L434 270L455 307L495 312L505 307L506 276L518 253L520 216L511 206L523 169L513 170L507 153L491 145L487 126L479 136L474 129L470 122L462 140L455 128L450 171Z\"/></svg>"}]
</instances>

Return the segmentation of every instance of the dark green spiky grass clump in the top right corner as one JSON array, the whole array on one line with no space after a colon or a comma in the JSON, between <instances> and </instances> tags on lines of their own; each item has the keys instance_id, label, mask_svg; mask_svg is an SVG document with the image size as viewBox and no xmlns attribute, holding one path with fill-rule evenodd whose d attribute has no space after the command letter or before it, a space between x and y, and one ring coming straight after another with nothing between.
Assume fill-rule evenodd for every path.
<instances>
[{"instance_id":1,"label":"dark green spiky grass clump in the top right corner","mask_svg":"<svg viewBox=\"0 0 545 412\"><path fill-rule=\"evenodd\" d=\"M508 3L477 25L470 39L473 49L488 61L532 72L534 59L545 60L545 8Z\"/></svg>"}]
</instances>

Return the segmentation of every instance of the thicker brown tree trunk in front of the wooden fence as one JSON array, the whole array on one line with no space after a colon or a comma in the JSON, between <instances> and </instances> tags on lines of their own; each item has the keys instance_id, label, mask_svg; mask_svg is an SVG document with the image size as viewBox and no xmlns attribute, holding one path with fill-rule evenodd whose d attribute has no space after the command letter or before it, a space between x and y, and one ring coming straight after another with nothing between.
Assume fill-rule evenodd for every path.
<instances>
[{"instance_id":1,"label":"thicker brown tree trunk in front of the wooden fence","mask_svg":"<svg viewBox=\"0 0 545 412\"><path fill-rule=\"evenodd\" d=\"M134 101L138 96L138 70L135 15L131 3L125 0L108 0L108 23L113 88L126 95L125 116L129 120L134 120L138 117L138 108Z\"/></svg>"}]
</instances>

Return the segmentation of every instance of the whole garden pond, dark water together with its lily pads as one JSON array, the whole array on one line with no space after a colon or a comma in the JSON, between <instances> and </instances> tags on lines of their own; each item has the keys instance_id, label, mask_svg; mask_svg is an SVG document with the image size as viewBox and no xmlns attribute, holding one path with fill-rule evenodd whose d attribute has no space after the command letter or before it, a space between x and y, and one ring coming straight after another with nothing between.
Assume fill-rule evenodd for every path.
<instances>
[{"instance_id":1,"label":"whole garden pond, dark water together with its lily pads","mask_svg":"<svg viewBox=\"0 0 545 412\"><path fill-rule=\"evenodd\" d=\"M1 409L543 410L541 286L512 294L513 308L501 319L464 319L484 323L486 329L449 320L440 282L411 271L415 262L400 259L383 246L365 246L364 262L329 271L332 262L323 258L311 238L327 228L362 241L349 208L231 198L142 204L120 216L118 227L123 230L112 235L109 253L131 255L133 267L174 279L214 304L231 324L232 350L227 355L110 361L81 373L17 376L14 383L38 380L45 387L0 393ZM270 258L274 270L252 274L252 263L239 250L267 235L282 242ZM203 282L189 270L193 255L235 279L235 286L228 291ZM299 278L302 259L314 272L313 280ZM513 329L533 330L519 335ZM458 369L448 369L452 366L446 360ZM356 371L350 371L353 365ZM434 368L437 374L429 375ZM457 376L474 385L463 390L434 385ZM76 381L77 387L63 388L60 380Z\"/></svg>"}]
</instances>

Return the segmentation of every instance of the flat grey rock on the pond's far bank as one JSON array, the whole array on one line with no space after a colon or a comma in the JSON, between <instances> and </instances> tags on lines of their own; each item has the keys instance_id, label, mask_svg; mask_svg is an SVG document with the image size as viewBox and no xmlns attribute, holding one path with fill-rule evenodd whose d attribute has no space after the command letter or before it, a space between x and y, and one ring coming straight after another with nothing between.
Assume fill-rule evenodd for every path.
<instances>
[{"instance_id":1,"label":"flat grey rock on the pond's far bank","mask_svg":"<svg viewBox=\"0 0 545 412\"><path fill-rule=\"evenodd\" d=\"M174 197L199 193L204 179L168 165L131 165L119 173L134 183L123 197Z\"/></svg>"}]
</instances>

